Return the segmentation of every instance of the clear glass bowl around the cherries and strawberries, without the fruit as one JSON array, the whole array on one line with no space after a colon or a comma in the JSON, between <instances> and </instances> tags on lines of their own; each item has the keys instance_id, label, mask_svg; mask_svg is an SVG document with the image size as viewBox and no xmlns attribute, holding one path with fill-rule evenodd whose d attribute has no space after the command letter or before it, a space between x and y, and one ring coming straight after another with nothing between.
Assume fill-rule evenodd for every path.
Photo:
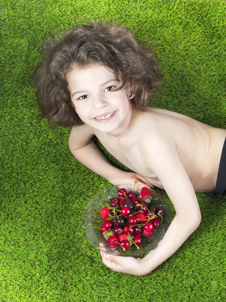
<instances>
[{"instance_id":1,"label":"clear glass bowl around the cherries and strawberries, without the fruit","mask_svg":"<svg viewBox=\"0 0 226 302\"><path fill-rule=\"evenodd\" d=\"M163 207L165 209L165 214L162 217L163 220L160 224L160 227L155 228L150 237L142 236L142 244L139 245L139 249L136 247L135 244L132 244L131 247L125 251L123 251L119 246L112 247L108 243L108 241L106 241L103 238L103 235L100 230L101 225L104 222L100 216L100 209L102 207L109 206L110 199L112 197L118 197L117 191L120 188L125 188L127 192L134 191L134 193L137 193L137 197L140 198L140 191L142 187L144 186L136 184L134 190L134 185L131 184L112 186L95 194L92 197L92 199L85 205L85 209L82 213L82 226L86 230L87 238L93 244L94 247L100 249L103 252L107 252L109 254L128 256L128 257L137 257L146 254L147 252L155 249L158 246L158 243L164 237L170 225L171 220L170 220L170 212L168 210L165 201L163 200L160 194L154 191L153 191L154 198L147 197L145 199L145 202L147 202L148 205L154 205L157 208Z\"/></svg>"}]
</instances>

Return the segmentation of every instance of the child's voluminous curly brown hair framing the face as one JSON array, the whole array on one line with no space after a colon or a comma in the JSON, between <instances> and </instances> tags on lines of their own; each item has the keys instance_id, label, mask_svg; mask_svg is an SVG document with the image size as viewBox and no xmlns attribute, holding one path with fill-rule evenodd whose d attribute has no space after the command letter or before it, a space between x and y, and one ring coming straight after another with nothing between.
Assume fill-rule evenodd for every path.
<instances>
[{"instance_id":1,"label":"child's voluminous curly brown hair framing the face","mask_svg":"<svg viewBox=\"0 0 226 302\"><path fill-rule=\"evenodd\" d=\"M149 48L139 46L129 29L91 21L67 30L45 44L43 60L33 73L33 84L42 117L63 127L84 122L77 115L68 89L67 75L76 66L101 63L122 81L118 89L133 87L131 102L145 111L160 87L163 75Z\"/></svg>"}]
</instances>

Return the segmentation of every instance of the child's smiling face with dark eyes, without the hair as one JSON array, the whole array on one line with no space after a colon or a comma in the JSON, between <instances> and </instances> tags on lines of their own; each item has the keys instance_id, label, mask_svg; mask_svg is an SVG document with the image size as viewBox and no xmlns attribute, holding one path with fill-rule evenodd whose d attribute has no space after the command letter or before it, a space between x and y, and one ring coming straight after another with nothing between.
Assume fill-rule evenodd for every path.
<instances>
[{"instance_id":1,"label":"child's smiling face with dark eyes, without the hair","mask_svg":"<svg viewBox=\"0 0 226 302\"><path fill-rule=\"evenodd\" d=\"M128 97L124 89L115 91L121 82L111 70L90 64L73 69L67 80L75 110L85 124L112 135L125 128L131 118L133 96Z\"/></svg>"}]
</instances>

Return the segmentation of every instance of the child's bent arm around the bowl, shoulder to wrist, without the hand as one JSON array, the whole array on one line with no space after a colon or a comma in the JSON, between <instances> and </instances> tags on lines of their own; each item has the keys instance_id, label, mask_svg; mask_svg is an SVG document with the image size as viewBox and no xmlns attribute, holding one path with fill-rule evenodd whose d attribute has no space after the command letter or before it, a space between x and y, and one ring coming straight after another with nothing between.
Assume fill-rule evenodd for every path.
<instances>
[{"instance_id":1,"label":"child's bent arm around the bowl, shoulder to wrist, without the hand","mask_svg":"<svg viewBox=\"0 0 226 302\"><path fill-rule=\"evenodd\" d=\"M171 199L176 216L157 249L145 257L148 272L172 256L198 228L201 213L191 181L178 157L173 142L158 140L155 150L147 158L147 164L158 175L168 197ZM153 158L157 159L153 161Z\"/></svg>"}]
</instances>

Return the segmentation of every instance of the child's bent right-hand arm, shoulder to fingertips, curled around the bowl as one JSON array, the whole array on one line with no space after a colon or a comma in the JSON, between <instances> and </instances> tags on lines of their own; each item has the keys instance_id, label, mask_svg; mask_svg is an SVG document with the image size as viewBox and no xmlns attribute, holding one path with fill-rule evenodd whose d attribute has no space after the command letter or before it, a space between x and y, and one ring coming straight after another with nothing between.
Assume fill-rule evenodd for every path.
<instances>
[{"instance_id":1,"label":"child's bent right-hand arm, shoulder to fingertips, curled around the bowl","mask_svg":"<svg viewBox=\"0 0 226 302\"><path fill-rule=\"evenodd\" d=\"M143 259L109 256L102 254L103 262L115 271L132 275L146 275L172 256L186 239L198 228L201 214L198 201L189 177L178 157L173 142L167 138L152 136L145 142L144 158L147 166L161 181L170 197L176 216L158 247Z\"/></svg>"}]
</instances>

